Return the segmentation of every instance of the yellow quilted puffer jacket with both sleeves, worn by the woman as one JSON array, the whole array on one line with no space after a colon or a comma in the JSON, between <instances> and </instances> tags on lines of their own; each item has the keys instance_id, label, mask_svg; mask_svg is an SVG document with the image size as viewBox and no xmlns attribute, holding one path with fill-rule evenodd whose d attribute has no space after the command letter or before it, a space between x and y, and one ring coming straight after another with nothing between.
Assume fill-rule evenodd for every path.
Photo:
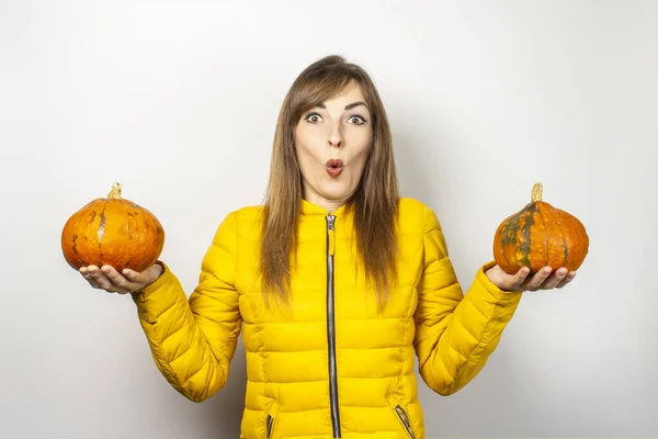
<instances>
[{"instance_id":1,"label":"yellow quilted puffer jacket with both sleeves, worn by the woman","mask_svg":"<svg viewBox=\"0 0 658 439\"><path fill-rule=\"evenodd\" d=\"M464 295L434 212L401 199L398 283L378 314L356 270L351 215L341 207L328 218L303 201L293 305L268 308L257 282L261 214L227 215L189 300L167 266L134 294L163 376L192 401L208 398L226 384L241 331L241 438L422 439L415 353L433 391L458 391L485 365L521 293L492 284L489 262Z\"/></svg>"}]
</instances>

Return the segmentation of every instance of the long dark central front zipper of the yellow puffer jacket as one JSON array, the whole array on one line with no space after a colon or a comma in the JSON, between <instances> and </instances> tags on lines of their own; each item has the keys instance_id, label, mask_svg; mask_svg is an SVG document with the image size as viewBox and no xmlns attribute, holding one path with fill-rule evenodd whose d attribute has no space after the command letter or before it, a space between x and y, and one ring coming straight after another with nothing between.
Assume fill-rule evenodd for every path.
<instances>
[{"instance_id":1,"label":"long dark central front zipper of the yellow puffer jacket","mask_svg":"<svg viewBox=\"0 0 658 439\"><path fill-rule=\"evenodd\" d=\"M329 349L329 397L331 398L331 426L333 437L340 438L340 414L338 410L338 376L336 372L336 318L333 307L333 254L336 240L333 224L336 216L327 216L327 346Z\"/></svg>"}]
</instances>

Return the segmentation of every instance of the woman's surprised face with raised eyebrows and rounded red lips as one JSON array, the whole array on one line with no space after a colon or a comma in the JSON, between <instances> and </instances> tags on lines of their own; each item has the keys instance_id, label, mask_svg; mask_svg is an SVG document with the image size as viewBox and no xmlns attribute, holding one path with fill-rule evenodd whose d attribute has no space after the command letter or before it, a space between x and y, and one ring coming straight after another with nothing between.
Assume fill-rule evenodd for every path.
<instances>
[{"instance_id":1,"label":"woman's surprised face with raised eyebrows and rounded red lips","mask_svg":"<svg viewBox=\"0 0 658 439\"><path fill-rule=\"evenodd\" d=\"M371 113L355 82L302 114L295 149L304 199L333 211L356 191L373 139Z\"/></svg>"}]
</instances>

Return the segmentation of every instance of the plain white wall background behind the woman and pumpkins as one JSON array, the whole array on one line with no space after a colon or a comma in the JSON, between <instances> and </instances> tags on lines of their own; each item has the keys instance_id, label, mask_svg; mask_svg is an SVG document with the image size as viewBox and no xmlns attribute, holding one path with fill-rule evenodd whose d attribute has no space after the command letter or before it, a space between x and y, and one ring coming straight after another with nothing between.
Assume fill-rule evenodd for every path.
<instances>
[{"instance_id":1,"label":"plain white wall background behind the woman and pumpkins","mask_svg":"<svg viewBox=\"0 0 658 439\"><path fill-rule=\"evenodd\" d=\"M591 238L466 389L420 383L428 437L658 436L657 23L656 1L0 1L0 436L238 436L241 346L188 402L59 234L121 181L191 291L217 224L262 202L285 92L333 53L375 80L465 289L535 181Z\"/></svg>"}]
</instances>

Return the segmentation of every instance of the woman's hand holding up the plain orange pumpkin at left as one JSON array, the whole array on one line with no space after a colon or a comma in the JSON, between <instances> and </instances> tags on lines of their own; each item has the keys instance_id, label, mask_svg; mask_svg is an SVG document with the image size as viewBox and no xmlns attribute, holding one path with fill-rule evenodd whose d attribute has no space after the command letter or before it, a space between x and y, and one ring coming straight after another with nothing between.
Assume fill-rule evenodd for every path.
<instances>
[{"instance_id":1,"label":"woman's hand holding up the plain orange pumpkin at left","mask_svg":"<svg viewBox=\"0 0 658 439\"><path fill-rule=\"evenodd\" d=\"M126 294L135 293L154 283L162 274L163 268L159 263L154 263L141 272L125 269L120 273L111 266L103 266L100 269L97 266L88 266L81 267L79 271L94 289Z\"/></svg>"}]
</instances>

